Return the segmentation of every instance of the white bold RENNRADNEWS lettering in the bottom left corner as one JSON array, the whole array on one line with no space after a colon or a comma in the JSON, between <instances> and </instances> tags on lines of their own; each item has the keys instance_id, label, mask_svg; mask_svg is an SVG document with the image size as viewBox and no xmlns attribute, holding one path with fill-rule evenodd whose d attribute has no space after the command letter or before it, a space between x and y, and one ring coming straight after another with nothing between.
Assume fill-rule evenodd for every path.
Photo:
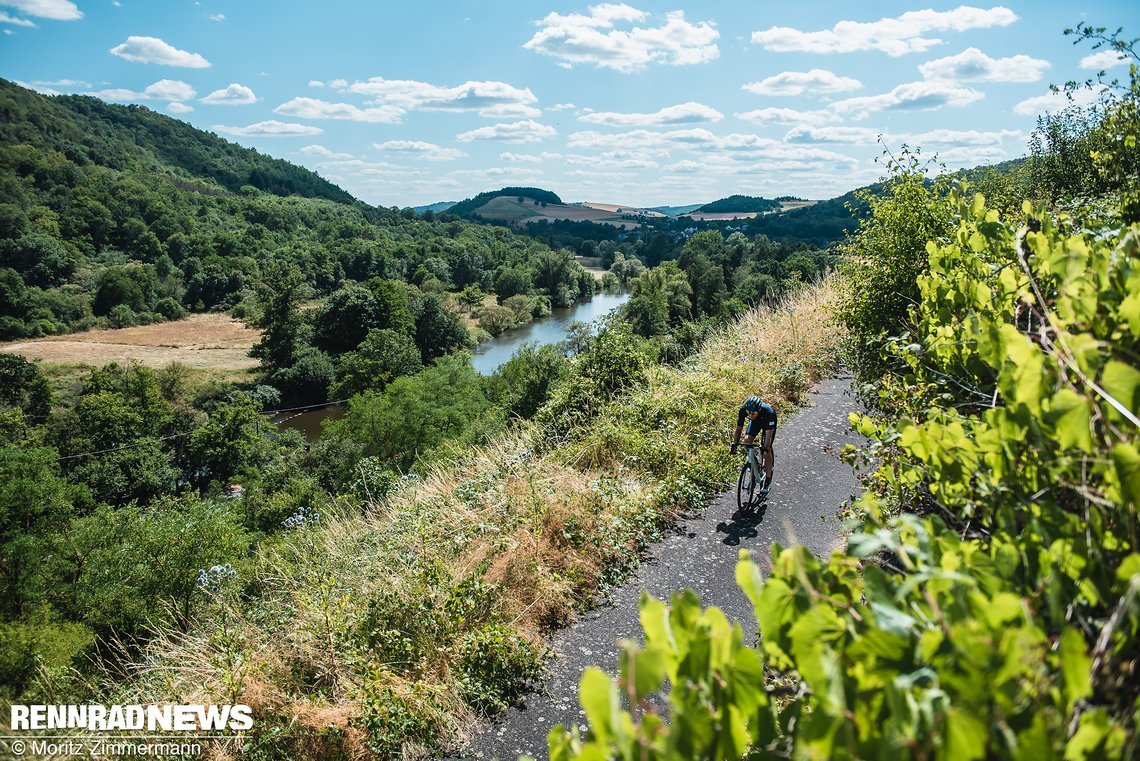
<instances>
[{"instance_id":1,"label":"white bold RENNRADNEWS lettering in the bottom left corner","mask_svg":"<svg viewBox=\"0 0 1140 761\"><path fill-rule=\"evenodd\" d=\"M249 705L13 705L11 729L236 731L253 728Z\"/></svg>"}]
</instances>

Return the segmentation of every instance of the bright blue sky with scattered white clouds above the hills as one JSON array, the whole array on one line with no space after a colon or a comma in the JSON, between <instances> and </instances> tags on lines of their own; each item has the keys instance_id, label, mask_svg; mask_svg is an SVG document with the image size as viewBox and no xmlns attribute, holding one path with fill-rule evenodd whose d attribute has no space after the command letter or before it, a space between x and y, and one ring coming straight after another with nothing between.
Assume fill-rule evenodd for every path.
<instances>
[{"instance_id":1,"label":"bright blue sky with scattered white clouds above the hills","mask_svg":"<svg viewBox=\"0 0 1140 761\"><path fill-rule=\"evenodd\" d=\"M1024 154L1140 3L0 0L0 76L137 103L372 204L534 185L628 205L826 198L883 145Z\"/></svg>"}]
</instances>

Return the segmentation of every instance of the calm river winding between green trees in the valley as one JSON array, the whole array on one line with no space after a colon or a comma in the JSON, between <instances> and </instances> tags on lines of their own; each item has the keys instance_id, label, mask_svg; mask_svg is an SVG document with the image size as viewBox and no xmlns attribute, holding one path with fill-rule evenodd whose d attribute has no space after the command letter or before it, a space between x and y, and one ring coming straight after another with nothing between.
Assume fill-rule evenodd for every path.
<instances>
[{"instance_id":1,"label":"calm river winding between green trees in the valley","mask_svg":"<svg viewBox=\"0 0 1140 761\"><path fill-rule=\"evenodd\" d=\"M563 341L569 334L571 322L596 322L629 298L628 293L600 293L589 301L578 302L573 306L555 309L549 317L528 322L513 330L506 330L490 341L475 346L471 366L482 375L490 375L498 366L511 359L519 347L527 343L553 344ZM335 420L344 415L344 408L334 404L321 407L308 412L287 412L270 418L282 428L300 431L310 444L324 434L321 423Z\"/></svg>"}]
</instances>

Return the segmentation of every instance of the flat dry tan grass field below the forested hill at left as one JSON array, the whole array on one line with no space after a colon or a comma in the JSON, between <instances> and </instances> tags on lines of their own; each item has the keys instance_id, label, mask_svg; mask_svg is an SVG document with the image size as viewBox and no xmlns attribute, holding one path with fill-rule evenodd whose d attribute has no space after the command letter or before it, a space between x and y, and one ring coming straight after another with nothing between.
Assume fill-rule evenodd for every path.
<instances>
[{"instance_id":1,"label":"flat dry tan grass field below the forested hill at left","mask_svg":"<svg viewBox=\"0 0 1140 761\"><path fill-rule=\"evenodd\" d=\"M174 322L21 341L0 345L0 351L59 365L135 360L154 368L180 362L199 370L247 370L256 367L249 352L260 334L228 314L194 314Z\"/></svg>"}]
</instances>

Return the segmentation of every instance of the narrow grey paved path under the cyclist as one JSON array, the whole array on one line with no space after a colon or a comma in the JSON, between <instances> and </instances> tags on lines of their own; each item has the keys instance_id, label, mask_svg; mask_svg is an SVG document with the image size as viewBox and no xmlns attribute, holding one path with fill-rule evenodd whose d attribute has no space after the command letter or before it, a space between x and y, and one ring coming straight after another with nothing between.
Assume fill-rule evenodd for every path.
<instances>
[{"instance_id":1,"label":"narrow grey paved path under the cyclist","mask_svg":"<svg viewBox=\"0 0 1140 761\"><path fill-rule=\"evenodd\" d=\"M652 549L637 573L613 591L610 605L580 615L554 637L544 692L529 695L519 707L479 728L462 758L513 761L528 754L545 759L546 735L554 725L576 722L585 729L578 679L587 665L616 673L618 639L641 638L637 599L642 590L668 599L691 588L702 605L716 605L747 631L752 608L735 581L740 549L767 557L772 542L779 541L805 545L825 556L839 547L841 526L836 513L857 491L850 467L837 456L844 444L857 443L847 429L847 414L857 407L849 388L849 377L824 380L811 394L808 407L781 420L766 504L740 513L733 488L717 496L700 516L683 521Z\"/></svg>"}]
</instances>

